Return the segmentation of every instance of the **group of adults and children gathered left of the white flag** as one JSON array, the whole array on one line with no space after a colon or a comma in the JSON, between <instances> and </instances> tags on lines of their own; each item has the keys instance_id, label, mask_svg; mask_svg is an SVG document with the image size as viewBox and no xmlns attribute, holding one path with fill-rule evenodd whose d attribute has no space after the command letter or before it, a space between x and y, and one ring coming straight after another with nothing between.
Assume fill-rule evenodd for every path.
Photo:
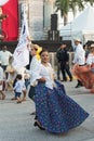
<instances>
[{"instance_id":1,"label":"group of adults and children gathered left of the white flag","mask_svg":"<svg viewBox=\"0 0 94 141\"><path fill-rule=\"evenodd\" d=\"M5 91L11 90L14 94L11 100L16 100L17 103L22 103L22 101L26 100L27 90L25 81L29 79L29 76L26 79L27 74L24 73L26 68L15 69L12 63L13 54L8 51L6 46L2 47L2 50L0 51L0 99L4 100ZM22 84L17 81L22 81ZM22 100L21 95L18 94L17 97L16 92L23 93L24 97Z\"/></svg>"}]
</instances>

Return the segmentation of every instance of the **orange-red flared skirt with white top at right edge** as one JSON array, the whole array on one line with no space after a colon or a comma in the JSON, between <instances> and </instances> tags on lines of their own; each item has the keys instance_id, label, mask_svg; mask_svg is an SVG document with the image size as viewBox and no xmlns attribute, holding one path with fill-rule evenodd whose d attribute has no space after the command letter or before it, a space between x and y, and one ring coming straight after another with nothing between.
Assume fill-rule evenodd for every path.
<instances>
[{"instance_id":1,"label":"orange-red flared skirt with white top at right edge","mask_svg":"<svg viewBox=\"0 0 94 141\"><path fill-rule=\"evenodd\" d=\"M72 73L86 89L90 89L90 92L94 93L94 54L88 55L85 65L76 64L72 67Z\"/></svg>"}]
</instances>

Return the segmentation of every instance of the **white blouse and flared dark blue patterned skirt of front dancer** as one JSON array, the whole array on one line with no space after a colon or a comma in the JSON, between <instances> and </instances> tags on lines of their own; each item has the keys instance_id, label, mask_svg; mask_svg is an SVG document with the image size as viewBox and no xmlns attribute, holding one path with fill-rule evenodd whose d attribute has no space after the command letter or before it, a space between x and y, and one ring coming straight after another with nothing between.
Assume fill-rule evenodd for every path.
<instances>
[{"instance_id":1,"label":"white blouse and flared dark blue patterned skirt of front dancer","mask_svg":"<svg viewBox=\"0 0 94 141\"><path fill-rule=\"evenodd\" d=\"M35 87L36 112L38 120L49 132L62 133L83 123L89 114L66 94L65 87L53 80L53 69L41 64L39 75L46 82Z\"/></svg>"}]
</instances>

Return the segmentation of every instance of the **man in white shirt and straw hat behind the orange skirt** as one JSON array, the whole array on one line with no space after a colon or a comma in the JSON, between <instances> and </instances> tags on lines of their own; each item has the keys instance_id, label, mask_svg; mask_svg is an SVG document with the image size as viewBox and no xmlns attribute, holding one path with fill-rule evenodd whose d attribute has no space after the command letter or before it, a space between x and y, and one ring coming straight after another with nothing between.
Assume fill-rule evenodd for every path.
<instances>
[{"instance_id":1,"label":"man in white shirt and straw hat behind the orange skirt","mask_svg":"<svg viewBox=\"0 0 94 141\"><path fill-rule=\"evenodd\" d=\"M83 66L85 64L85 51L81 44L80 39L75 39L76 50L75 50L75 57L73 57L73 64L78 64L79 66ZM81 87L82 84L80 80L78 80L78 84L76 88Z\"/></svg>"}]
</instances>

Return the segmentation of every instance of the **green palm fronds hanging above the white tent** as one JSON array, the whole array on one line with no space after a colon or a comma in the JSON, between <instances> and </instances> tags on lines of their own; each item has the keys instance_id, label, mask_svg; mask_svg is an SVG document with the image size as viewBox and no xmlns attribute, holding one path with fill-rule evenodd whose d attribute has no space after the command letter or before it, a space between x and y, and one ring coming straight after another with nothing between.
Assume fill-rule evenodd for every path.
<instances>
[{"instance_id":1,"label":"green palm fronds hanging above the white tent","mask_svg":"<svg viewBox=\"0 0 94 141\"><path fill-rule=\"evenodd\" d=\"M75 16L77 7L79 11L82 11L86 3L93 5L94 0L56 0L55 7L56 7L56 12L59 10L62 17L64 16L64 25L66 25L68 22L69 10L72 11Z\"/></svg>"}]
</instances>

